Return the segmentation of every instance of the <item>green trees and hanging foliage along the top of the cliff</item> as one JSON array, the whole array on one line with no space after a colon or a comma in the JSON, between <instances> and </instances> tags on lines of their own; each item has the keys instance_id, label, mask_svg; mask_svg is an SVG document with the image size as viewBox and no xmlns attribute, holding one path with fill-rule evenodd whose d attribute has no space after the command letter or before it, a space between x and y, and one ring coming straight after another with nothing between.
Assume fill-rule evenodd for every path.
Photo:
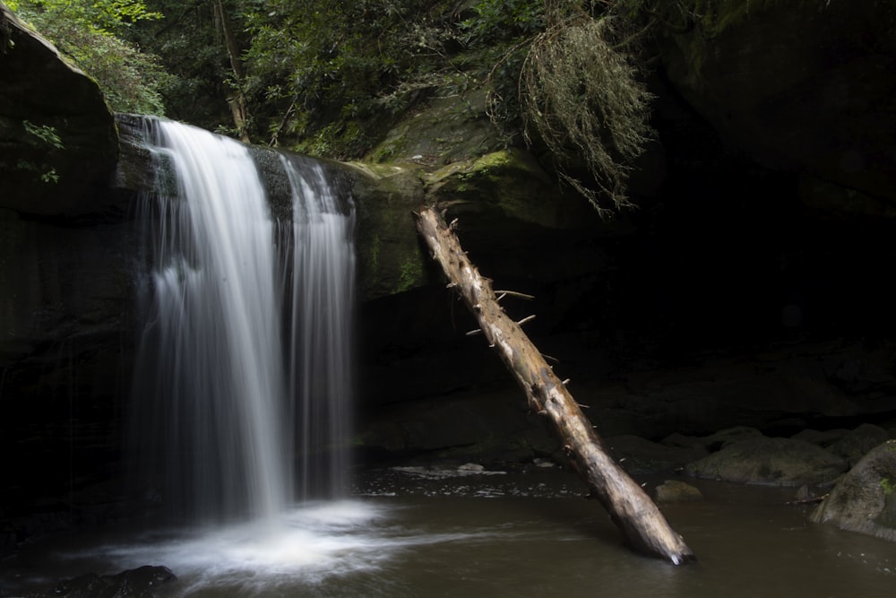
<instances>
[{"instance_id":1,"label":"green trees and hanging foliage along the top of the cliff","mask_svg":"<svg viewBox=\"0 0 896 598\"><path fill-rule=\"evenodd\" d=\"M409 111L489 94L495 137L528 143L600 212L628 204L650 137L639 30L649 0L17 0L118 111L337 159ZM678 3L672 3L676 6ZM157 57L158 56L158 57Z\"/></svg>"}]
</instances>

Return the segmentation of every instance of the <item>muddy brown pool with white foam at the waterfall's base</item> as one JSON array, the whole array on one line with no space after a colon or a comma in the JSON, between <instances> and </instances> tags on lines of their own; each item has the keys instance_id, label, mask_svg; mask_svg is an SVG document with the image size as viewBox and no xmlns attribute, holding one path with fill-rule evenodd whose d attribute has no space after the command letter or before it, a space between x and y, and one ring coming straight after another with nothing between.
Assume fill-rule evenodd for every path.
<instances>
[{"instance_id":1,"label":"muddy brown pool with white foam at the waterfall's base","mask_svg":"<svg viewBox=\"0 0 896 598\"><path fill-rule=\"evenodd\" d=\"M646 481L649 487L659 481ZM306 504L276 529L234 526L26 547L0 562L0 595L87 571L165 565L171 596L896 595L896 544L809 524L793 490L694 481L663 507L698 556L673 567L620 545L567 472L442 477L367 472L354 498Z\"/></svg>"}]
</instances>

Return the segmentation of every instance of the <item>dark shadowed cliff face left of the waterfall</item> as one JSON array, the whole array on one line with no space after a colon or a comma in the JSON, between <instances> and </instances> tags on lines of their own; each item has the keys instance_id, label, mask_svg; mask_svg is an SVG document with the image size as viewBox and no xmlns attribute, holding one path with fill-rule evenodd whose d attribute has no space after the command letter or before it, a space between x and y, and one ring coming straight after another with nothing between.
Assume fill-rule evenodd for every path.
<instances>
[{"instance_id":1,"label":"dark shadowed cliff face left of the waterfall","mask_svg":"<svg viewBox=\"0 0 896 598\"><path fill-rule=\"evenodd\" d=\"M96 82L0 3L0 517L66 480L82 516L76 493L116 470L133 327L117 156Z\"/></svg>"}]
</instances>

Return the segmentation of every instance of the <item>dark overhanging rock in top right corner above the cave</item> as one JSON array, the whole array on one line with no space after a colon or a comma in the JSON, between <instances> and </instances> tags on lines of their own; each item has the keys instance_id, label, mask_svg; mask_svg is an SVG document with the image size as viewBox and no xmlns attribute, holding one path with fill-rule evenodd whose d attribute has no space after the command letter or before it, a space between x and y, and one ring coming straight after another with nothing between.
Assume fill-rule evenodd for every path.
<instances>
[{"instance_id":1,"label":"dark overhanging rock in top right corner above the cave","mask_svg":"<svg viewBox=\"0 0 896 598\"><path fill-rule=\"evenodd\" d=\"M876 198L866 213L892 216L894 20L892 3L876 0L719 3L661 35L661 55L728 143L765 166ZM862 208L843 200L844 211Z\"/></svg>"}]
</instances>

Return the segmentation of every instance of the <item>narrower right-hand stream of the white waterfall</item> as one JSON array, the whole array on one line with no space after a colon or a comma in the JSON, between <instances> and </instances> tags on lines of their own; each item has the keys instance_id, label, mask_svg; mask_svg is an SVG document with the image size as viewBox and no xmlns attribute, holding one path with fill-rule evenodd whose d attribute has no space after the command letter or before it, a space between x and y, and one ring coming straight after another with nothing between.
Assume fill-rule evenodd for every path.
<instances>
[{"instance_id":1,"label":"narrower right-hand stream of the white waterfall","mask_svg":"<svg viewBox=\"0 0 896 598\"><path fill-rule=\"evenodd\" d=\"M352 395L353 215L343 215L319 163L281 155L293 203L289 395L297 397L300 498L339 496L348 488L345 451L321 447L348 439Z\"/></svg>"}]
</instances>

